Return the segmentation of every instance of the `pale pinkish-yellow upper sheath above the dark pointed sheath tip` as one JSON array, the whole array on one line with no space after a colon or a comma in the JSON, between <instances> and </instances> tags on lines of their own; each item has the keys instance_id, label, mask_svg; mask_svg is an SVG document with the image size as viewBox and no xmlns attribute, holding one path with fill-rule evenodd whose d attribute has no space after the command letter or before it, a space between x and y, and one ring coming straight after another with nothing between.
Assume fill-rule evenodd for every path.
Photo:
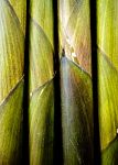
<instances>
[{"instance_id":1,"label":"pale pinkish-yellow upper sheath above the dark pointed sheath tip","mask_svg":"<svg viewBox=\"0 0 118 165\"><path fill-rule=\"evenodd\" d=\"M61 46L90 74L89 0L60 0Z\"/></svg>"}]
</instances>

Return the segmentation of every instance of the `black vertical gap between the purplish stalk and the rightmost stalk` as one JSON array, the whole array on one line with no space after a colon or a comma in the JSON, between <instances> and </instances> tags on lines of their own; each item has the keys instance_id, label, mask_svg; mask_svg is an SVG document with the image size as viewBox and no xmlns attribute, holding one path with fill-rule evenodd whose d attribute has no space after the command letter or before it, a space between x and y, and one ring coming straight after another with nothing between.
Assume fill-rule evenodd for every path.
<instances>
[{"instance_id":1,"label":"black vertical gap between the purplish stalk and the rightmost stalk","mask_svg":"<svg viewBox=\"0 0 118 165\"><path fill-rule=\"evenodd\" d=\"M98 119L98 68L97 68L97 2L90 0L92 75L94 105L94 163L100 165L100 139Z\"/></svg>"}]
</instances>

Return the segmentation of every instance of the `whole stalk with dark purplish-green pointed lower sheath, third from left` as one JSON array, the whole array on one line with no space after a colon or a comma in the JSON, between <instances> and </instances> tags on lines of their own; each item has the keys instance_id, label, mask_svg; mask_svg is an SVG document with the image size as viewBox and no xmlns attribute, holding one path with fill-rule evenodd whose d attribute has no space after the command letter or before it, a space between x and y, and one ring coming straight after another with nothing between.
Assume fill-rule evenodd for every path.
<instances>
[{"instance_id":1,"label":"whole stalk with dark purplish-green pointed lower sheath, third from left","mask_svg":"<svg viewBox=\"0 0 118 165\"><path fill-rule=\"evenodd\" d=\"M60 0L64 165L93 164L89 1Z\"/></svg>"}]
</instances>

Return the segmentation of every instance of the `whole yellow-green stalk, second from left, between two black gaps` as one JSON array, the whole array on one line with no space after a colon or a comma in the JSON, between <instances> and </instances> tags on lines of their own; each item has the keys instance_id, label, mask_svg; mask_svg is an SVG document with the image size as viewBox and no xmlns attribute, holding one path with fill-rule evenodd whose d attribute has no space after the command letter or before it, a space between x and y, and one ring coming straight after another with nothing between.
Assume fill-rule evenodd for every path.
<instances>
[{"instance_id":1,"label":"whole yellow-green stalk, second from left, between two black gaps","mask_svg":"<svg viewBox=\"0 0 118 165\"><path fill-rule=\"evenodd\" d=\"M30 1L30 164L53 164L53 1Z\"/></svg>"}]
</instances>

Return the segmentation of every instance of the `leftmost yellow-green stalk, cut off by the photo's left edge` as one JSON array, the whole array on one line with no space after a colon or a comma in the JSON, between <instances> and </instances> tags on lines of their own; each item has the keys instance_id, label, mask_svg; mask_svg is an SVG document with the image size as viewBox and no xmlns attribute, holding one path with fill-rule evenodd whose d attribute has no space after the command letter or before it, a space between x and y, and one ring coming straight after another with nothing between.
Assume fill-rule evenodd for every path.
<instances>
[{"instance_id":1,"label":"leftmost yellow-green stalk, cut off by the photo's left edge","mask_svg":"<svg viewBox=\"0 0 118 165\"><path fill-rule=\"evenodd\" d=\"M0 164L22 155L25 3L0 0ZM22 16L20 16L22 13Z\"/></svg>"}]
</instances>

